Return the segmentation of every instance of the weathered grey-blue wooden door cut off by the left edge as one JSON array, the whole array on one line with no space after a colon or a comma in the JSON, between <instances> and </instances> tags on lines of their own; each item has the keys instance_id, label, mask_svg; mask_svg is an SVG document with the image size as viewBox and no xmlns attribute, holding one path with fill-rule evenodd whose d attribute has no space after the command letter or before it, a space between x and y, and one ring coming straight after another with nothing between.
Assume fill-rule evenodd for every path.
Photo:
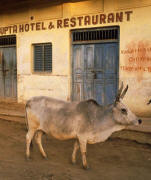
<instances>
[{"instance_id":1,"label":"weathered grey-blue wooden door cut off by the left edge","mask_svg":"<svg viewBox=\"0 0 151 180\"><path fill-rule=\"evenodd\" d=\"M0 97L17 97L16 47L0 48Z\"/></svg>"}]
</instances>

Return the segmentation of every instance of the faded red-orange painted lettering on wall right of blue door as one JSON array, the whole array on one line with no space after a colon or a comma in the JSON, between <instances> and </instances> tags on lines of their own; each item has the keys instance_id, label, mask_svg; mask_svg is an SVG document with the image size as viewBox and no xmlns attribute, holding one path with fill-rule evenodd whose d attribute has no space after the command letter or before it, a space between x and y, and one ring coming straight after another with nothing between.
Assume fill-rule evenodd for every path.
<instances>
[{"instance_id":1,"label":"faded red-orange painted lettering on wall right of blue door","mask_svg":"<svg viewBox=\"0 0 151 180\"><path fill-rule=\"evenodd\" d=\"M127 44L126 49L121 50L123 65L121 71L137 74L138 80L143 78L145 72L151 73L151 42L138 41Z\"/></svg>"}]
</instances>

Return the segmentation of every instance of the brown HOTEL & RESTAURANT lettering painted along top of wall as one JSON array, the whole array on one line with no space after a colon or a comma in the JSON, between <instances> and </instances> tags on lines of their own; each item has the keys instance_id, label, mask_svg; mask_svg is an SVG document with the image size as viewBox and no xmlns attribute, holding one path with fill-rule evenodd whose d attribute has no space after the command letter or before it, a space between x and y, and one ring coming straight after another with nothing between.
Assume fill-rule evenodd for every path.
<instances>
[{"instance_id":1,"label":"brown HOTEL & RESTAURANT lettering painted along top of wall","mask_svg":"<svg viewBox=\"0 0 151 180\"><path fill-rule=\"evenodd\" d=\"M6 27L0 27L0 35L16 34L29 31L51 30L55 28L74 28L78 26L118 23L123 21L130 21L132 13L133 11L124 11L109 14L97 14L57 19L56 21L50 21L48 23L32 22L26 24L10 25Z\"/></svg>"}]
</instances>

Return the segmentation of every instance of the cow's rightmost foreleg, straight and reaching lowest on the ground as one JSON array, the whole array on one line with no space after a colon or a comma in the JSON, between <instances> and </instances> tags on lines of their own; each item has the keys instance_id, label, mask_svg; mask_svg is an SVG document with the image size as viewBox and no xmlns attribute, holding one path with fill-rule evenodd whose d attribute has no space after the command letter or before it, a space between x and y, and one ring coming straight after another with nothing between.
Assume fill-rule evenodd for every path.
<instances>
[{"instance_id":1,"label":"cow's rightmost foreleg, straight and reaching lowest on the ground","mask_svg":"<svg viewBox=\"0 0 151 180\"><path fill-rule=\"evenodd\" d=\"M87 165L87 159L86 159L86 145L87 145L87 142L85 140L80 140L79 139L79 144L80 144L83 168L88 169L89 167Z\"/></svg>"}]
</instances>

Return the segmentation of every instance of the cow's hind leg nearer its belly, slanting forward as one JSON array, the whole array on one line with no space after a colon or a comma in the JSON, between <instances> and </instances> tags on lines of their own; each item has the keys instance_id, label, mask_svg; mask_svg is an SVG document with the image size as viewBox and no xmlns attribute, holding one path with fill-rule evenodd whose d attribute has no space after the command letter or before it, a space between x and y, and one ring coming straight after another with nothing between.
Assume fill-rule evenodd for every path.
<instances>
[{"instance_id":1,"label":"cow's hind leg nearer its belly, slanting forward","mask_svg":"<svg viewBox=\"0 0 151 180\"><path fill-rule=\"evenodd\" d=\"M42 141L41 141L42 135L43 135L43 131L38 130L36 132L35 140L36 140L36 143L38 144L38 147L39 147L39 150L40 150L42 156L44 158L47 158L47 155L46 155L46 153L45 153L45 151L44 151L44 149L42 147Z\"/></svg>"}]
</instances>

